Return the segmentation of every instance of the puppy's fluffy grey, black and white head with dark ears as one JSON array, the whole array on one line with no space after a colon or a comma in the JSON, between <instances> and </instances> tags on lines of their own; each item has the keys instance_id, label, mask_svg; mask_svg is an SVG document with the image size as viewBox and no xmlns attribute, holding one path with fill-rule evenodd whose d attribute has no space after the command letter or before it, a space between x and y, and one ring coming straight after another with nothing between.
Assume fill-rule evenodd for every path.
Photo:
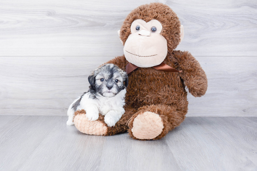
<instances>
[{"instance_id":1,"label":"puppy's fluffy grey, black and white head with dark ears","mask_svg":"<svg viewBox=\"0 0 257 171\"><path fill-rule=\"evenodd\" d=\"M105 64L88 76L90 89L104 97L113 97L128 86L128 75L114 64Z\"/></svg>"}]
</instances>

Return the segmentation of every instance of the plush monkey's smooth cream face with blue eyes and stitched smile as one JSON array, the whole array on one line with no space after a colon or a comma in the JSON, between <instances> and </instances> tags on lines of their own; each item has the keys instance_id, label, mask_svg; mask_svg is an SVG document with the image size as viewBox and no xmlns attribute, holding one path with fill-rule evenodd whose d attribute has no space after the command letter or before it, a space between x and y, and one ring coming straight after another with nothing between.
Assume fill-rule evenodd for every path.
<instances>
[{"instance_id":1,"label":"plush monkey's smooth cream face with blue eyes and stitched smile","mask_svg":"<svg viewBox=\"0 0 257 171\"><path fill-rule=\"evenodd\" d=\"M167 40L160 35L162 24L158 20L132 22L131 34L124 44L124 54L128 62L138 67L159 65L167 56Z\"/></svg>"}]
</instances>

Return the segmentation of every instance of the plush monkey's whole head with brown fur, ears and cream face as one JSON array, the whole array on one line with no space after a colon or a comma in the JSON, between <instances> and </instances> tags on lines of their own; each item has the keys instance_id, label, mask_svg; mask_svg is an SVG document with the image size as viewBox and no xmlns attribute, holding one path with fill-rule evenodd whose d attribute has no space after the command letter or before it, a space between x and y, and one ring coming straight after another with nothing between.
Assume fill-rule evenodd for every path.
<instances>
[{"instance_id":1,"label":"plush monkey's whole head with brown fur, ears and cream face","mask_svg":"<svg viewBox=\"0 0 257 171\"><path fill-rule=\"evenodd\" d=\"M176 13L162 3L144 4L132 10L118 33L127 61L138 67L159 65L184 37Z\"/></svg>"}]
</instances>

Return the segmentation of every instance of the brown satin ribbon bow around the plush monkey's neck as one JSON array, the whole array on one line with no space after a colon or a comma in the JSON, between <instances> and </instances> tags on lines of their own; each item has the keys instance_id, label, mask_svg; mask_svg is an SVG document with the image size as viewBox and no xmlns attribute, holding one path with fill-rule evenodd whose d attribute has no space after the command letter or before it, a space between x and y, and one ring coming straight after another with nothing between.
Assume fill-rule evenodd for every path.
<instances>
[{"instance_id":1,"label":"brown satin ribbon bow around the plush monkey's neck","mask_svg":"<svg viewBox=\"0 0 257 171\"><path fill-rule=\"evenodd\" d=\"M131 73L133 70L137 69L138 66L128 62L128 64L126 65L126 73L129 74ZM156 65L156 66L153 66L152 68L156 69L156 70L159 70L159 71L165 71L165 72L179 72L181 73L182 70L177 70L177 69L174 69L168 65L166 65L165 63L161 63L159 65Z\"/></svg>"}]
</instances>

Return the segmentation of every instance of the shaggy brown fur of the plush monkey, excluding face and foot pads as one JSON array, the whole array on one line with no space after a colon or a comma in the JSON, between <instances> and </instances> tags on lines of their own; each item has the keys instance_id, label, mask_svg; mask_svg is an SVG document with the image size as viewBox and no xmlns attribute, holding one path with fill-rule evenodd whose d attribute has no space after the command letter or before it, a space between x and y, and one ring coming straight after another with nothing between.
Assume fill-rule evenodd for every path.
<instances>
[{"instance_id":1,"label":"shaggy brown fur of the plush monkey, excluding face and foot pads","mask_svg":"<svg viewBox=\"0 0 257 171\"><path fill-rule=\"evenodd\" d=\"M129 135L137 139L131 131L133 121L137 115L150 111L158 114L162 119L163 131L153 138L160 139L185 119L188 111L185 86L193 96L200 97L207 90L207 78L199 62L188 51L174 50L180 42L180 22L167 5L151 3L133 10L121 27L120 38L123 43L131 34L130 26L136 19L146 22L155 19L162 24L161 35L168 42L168 55L164 63L183 72L162 72L153 68L134 70L129 75L125 114L114 127L108 127L106 135L128 130ZM107 63L113 63L125 70L128 61L125 56L119 56ZM104 122L103 116L99 117L99 120Z\"/></svg>"}]
</instances>

